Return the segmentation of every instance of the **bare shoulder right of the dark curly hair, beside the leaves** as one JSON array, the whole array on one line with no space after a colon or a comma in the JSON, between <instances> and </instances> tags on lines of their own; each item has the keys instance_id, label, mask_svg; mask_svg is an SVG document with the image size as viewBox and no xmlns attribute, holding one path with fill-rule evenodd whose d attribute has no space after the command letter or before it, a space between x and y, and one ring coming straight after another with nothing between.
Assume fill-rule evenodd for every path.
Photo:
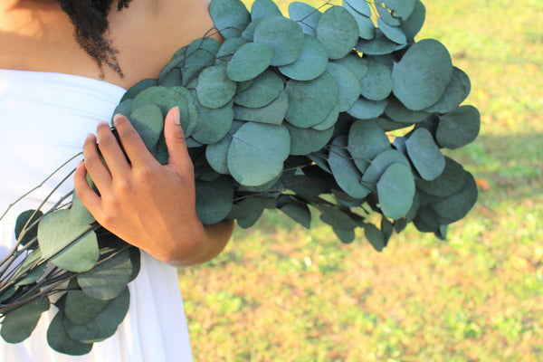
<instances>
[{"instance_id":1,"label":"bare shoulder right of the dark curly hair, beside the leaves","mask_svg":"<svg viewBox=\"0 0 543 362\"><path fill-rule=\"evenodd\" d=\"M129 87L138 80L156 78L177 49L213 28L208 3L209 0L132 0L128 8L112 11L110 40L119 51L119 64L125 75L124 80L116 81Z\"/></svg>"}]
</instances>

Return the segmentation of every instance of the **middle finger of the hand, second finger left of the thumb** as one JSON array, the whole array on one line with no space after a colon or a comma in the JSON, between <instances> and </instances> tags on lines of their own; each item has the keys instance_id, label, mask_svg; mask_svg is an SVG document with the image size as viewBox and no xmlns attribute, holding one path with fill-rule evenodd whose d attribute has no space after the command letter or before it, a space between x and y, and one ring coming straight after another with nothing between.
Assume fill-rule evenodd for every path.
<instances>
[{"instance_id":1,"label":"middle finger of the hand, second finger left of the thumb","mask_svg":"<svg viewBox=\"0 0 543 362\"><path fill-rule=\"evenodd\" d=\"M120 148L117 138L113 135L110 126L107 123L100 122L96 130L98 135L98 148L106 165L110 168L110 174L115 176L126 175L130 170L129 161Z\"/></svg>"}]
</instances>

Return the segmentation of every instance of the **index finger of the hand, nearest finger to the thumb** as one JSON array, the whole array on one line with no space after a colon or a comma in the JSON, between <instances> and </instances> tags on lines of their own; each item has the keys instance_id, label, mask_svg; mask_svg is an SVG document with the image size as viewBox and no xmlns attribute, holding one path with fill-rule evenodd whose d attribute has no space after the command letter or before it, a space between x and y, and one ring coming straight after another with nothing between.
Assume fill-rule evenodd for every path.
<instances>
[{"instance_id":1,"label":"index finger of the hand, nearest finger to the thumb","mask_svg":"<svg viewBox=\"0 0 543 362\"><path fill-rule=\"evenodd\" d=\"M129 119L121 114L116 114L113 117L113 122L117 133L119 133L120 143L132 165L144 164L155 160L155 157L148 151L143 139L139 137L138 131L134 129Z\"/></svg>"}]
</instances>

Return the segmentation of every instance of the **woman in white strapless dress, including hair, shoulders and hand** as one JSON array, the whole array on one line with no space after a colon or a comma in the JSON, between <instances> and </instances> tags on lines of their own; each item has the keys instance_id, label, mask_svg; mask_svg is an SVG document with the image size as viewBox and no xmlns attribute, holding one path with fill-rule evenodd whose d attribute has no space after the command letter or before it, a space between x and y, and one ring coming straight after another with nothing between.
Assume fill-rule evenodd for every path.
<instances>
[{"instance_id":1,"label":"woman in white strapless dress, including hair, shoulders and hand","mask_svg":"<svg viewBox=\"0 0 543 362\"><path fill-rule=\"evenodd\" d=\"M0 208L38 185L81 149L84 163L75 190L96 220L143 252L142 269L129 285L130 309L117 333L89 355L52 351L45 332L50 311L31 338L0 341L1 361L191 360L176 268L221 252L233 224L203 226L195 214L192 164L179 112L170 110L165 137L170 159L161 166L129 120L116 117L119 138L107 123L126 89L157 78L178 48L213 23L205 0L2 0L0 2ZM106 121L106 122L104 122ZM100 145L100 146L97 146ZM105 158L105 167L100 154ZM99 194L85 182L89 173ZM14 218L38 205L52 178L0 224L0 256L13 246ZM55 194L71 189L65 186ZM53 196L52 199L55 199Z\"/></svg>"}]
</instances>

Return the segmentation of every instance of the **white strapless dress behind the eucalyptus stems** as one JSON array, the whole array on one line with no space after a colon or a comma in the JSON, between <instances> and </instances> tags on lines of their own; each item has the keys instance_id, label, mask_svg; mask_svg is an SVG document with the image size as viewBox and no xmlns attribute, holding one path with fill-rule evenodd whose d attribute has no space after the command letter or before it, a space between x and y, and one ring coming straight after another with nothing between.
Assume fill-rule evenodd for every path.
<instances>
[{"instance_id":1,"label":"white strapless dress behind the eucalyptus stems","mask_svg":"<svg viewBox=\"0 0 543 362\"><path fill-rule=\"evenodd\" d=\"M0 70L0 215L78 154L97 123L110 121L124 92L114 84L76 75ZM0 221L0 259L14 245L17 215L38 207L80 159L14 205ZM54 193L52 203L71 191L71 178ZM141 271L129 291L127 317L113 337L95 343L88 355L67 356L49 347L46 331L56 313L52 307L23 343L9 344L0 338L0 361L192 361L176 268L142 252Z\"/></svg>"}]
</instances>

